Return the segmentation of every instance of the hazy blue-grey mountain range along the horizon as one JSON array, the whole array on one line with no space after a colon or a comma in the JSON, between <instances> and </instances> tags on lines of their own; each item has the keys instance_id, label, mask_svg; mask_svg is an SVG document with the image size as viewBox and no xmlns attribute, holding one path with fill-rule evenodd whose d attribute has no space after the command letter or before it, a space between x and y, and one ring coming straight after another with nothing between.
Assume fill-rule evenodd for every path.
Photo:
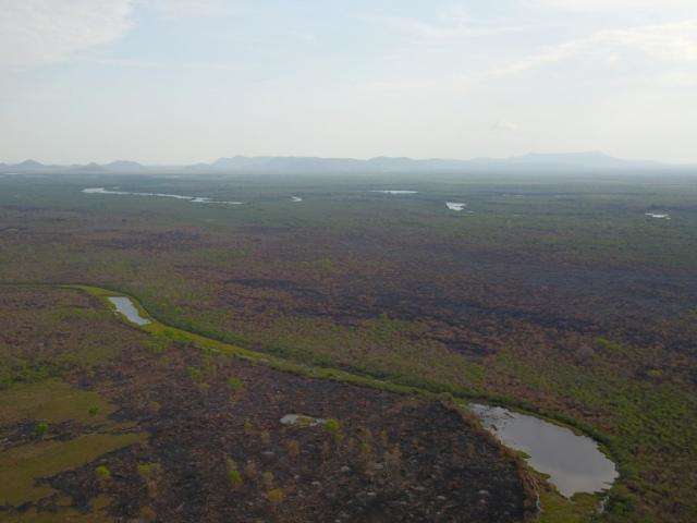
<instances>
[{"instance_id":1,"label":"hazy blue-grey mountain range along the horizon","mask_svg":"<svg viewBox=\"0 0 697 523\"><path fill-rule=\"evenodd\" d=\"M235 156L220 158L212 163L188 166L144 166L136 161L118 160L111 163L72 166L44 165L35 160L21 163L0 163L0 173L418 173L418 172L596 172L696 170L697 166L674 166L658 161L624 160L604 153L529 154L511 158L475 158L470 160L412 159L377 157L369 160L354 158L319 158L307 156Z\"/></svg>"}]
</instances>

